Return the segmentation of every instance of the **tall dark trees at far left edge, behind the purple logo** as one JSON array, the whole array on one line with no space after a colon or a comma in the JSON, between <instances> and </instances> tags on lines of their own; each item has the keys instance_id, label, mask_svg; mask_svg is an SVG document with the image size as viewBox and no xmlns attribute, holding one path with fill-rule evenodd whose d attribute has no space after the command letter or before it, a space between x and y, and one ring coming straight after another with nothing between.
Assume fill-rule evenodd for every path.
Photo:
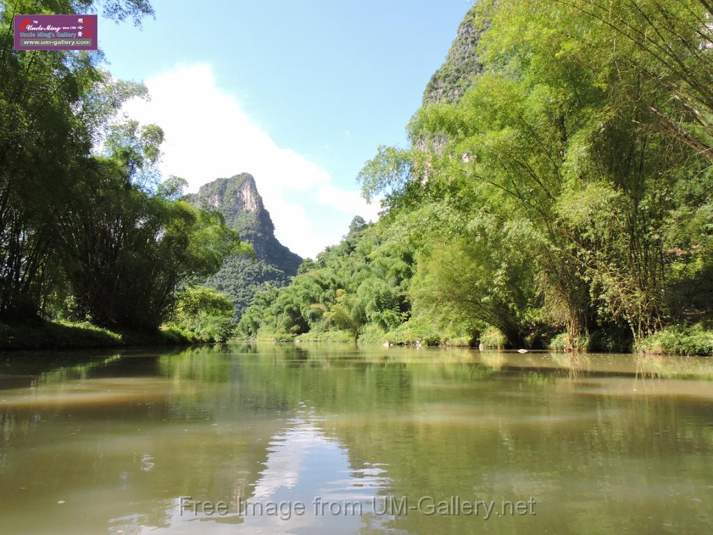
<instances>
[{"instance_id":1,"label":"tall dark trees at far left edge, behind the purple logo","mask_svg":"<svg viewBox=\"0 0 713 535\"><path fill-rule=\"evenodd\" d=\"M56 218L66 210L63 193L121 103L145 94L137 84L112 84L97 52L14 51L12 16L96 6L115 21L138 24L153 14L145 0L0 3L7 29L0 33L0 317L32 320L46 307L61 277Z\"/></svg>"}]
</instances>

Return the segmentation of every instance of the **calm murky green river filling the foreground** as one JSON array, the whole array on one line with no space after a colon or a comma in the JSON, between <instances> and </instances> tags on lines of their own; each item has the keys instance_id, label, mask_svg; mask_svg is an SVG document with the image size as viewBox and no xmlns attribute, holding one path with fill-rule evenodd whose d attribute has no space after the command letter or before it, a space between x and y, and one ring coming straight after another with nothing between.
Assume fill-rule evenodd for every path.
<instances>
[{"instance_id":1,"label":"calm murky green river filling the foreground","mask_svg":"<svg viewBox=\"0 0 713 535\"><path fill-rule=\"evenodd\" d=\"M228 345L0 360L1 534L703 534L713 359Z\"/></svg>"}]
</instances>

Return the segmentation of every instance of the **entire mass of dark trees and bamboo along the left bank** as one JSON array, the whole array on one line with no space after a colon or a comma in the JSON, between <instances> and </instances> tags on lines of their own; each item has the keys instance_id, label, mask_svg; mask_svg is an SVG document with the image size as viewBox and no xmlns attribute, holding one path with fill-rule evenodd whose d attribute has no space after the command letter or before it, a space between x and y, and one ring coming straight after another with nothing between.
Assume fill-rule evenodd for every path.
<instances>
[{"instance_id":1,"label":"entire mass of dark trees and bamboo along the left bank","mask_svg":"<svg viewBox=\"0 0 713 535\"><path fill-rule=\"evenodd\" d=\"M21 0L2 1L0 19L10 29L15 13L94 7L135 24L153 15L145 0ZM178 288L252 248L220 214L180 200L185 180L159 183L163 131L118 117L125 101L147 91L114 80L101 60L14 51L11 31L0 36L0 319L62 317L156 335ZM200 340L225 339L230 326L209 316ZM68 345L62 328L46 324L39 343ZM87 332L106 335L81 327L78 340L92 344Z\"/></svg>"}]
</instances>

